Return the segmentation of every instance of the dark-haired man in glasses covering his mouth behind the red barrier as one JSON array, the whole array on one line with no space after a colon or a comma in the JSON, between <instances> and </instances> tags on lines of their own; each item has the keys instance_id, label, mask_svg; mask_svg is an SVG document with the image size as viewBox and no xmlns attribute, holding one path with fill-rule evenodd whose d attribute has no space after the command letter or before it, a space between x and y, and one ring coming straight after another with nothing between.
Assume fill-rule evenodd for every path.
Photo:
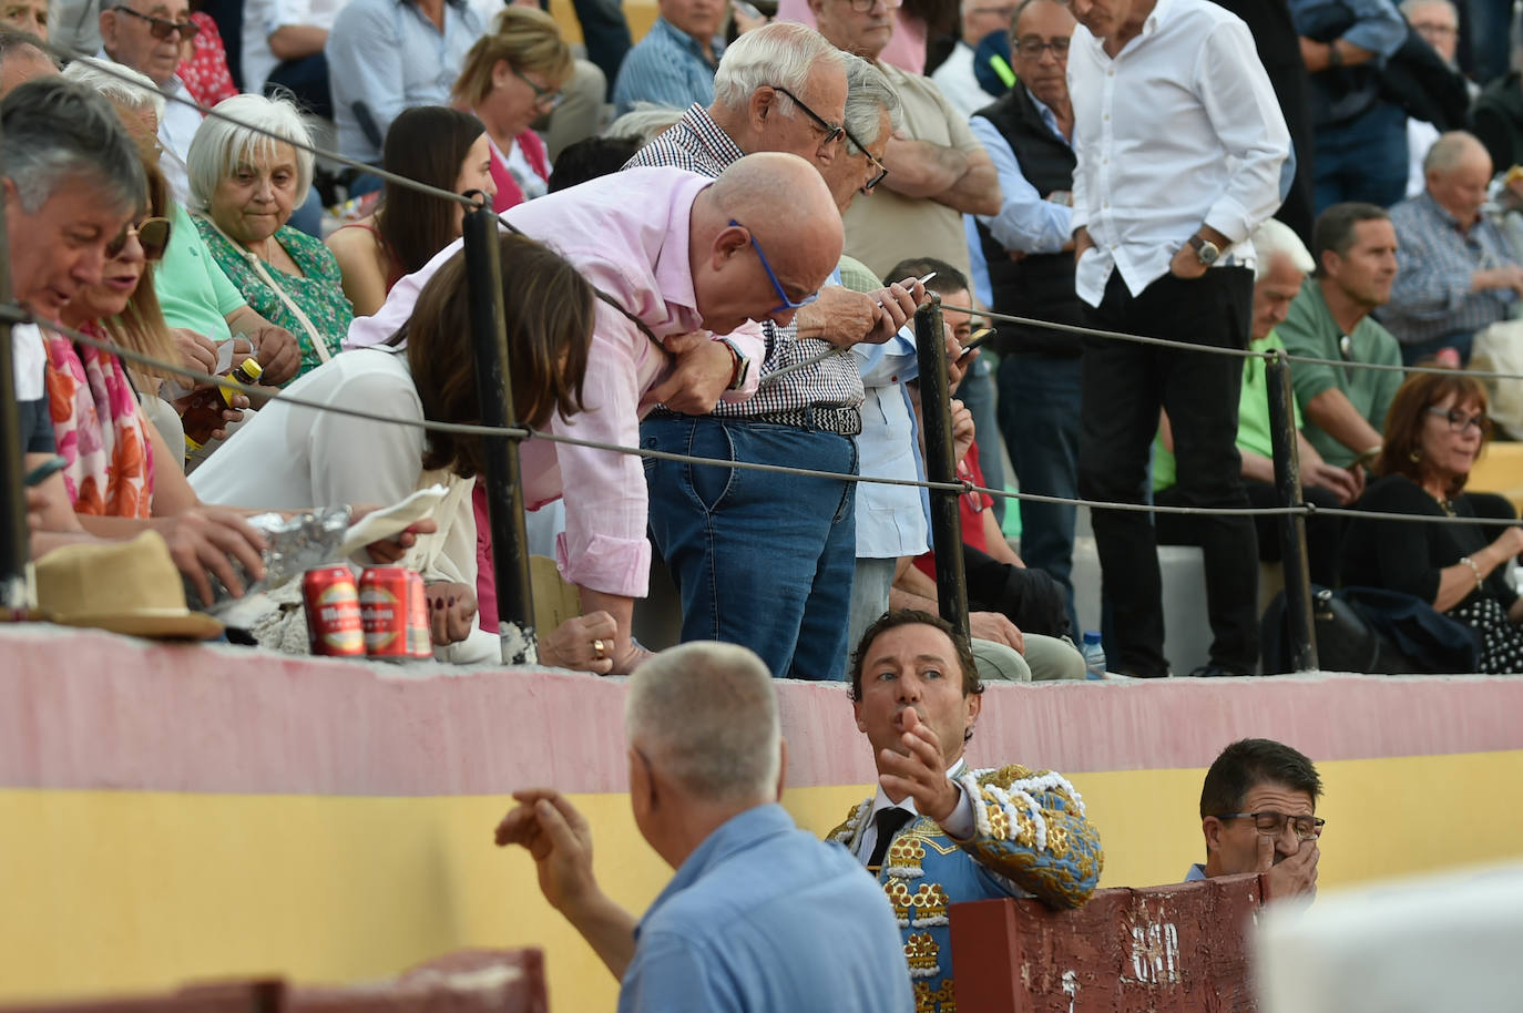
<instances>
[{"instance_id":1,"label":"dark-haired man in glasses covering his mouth behind the red barrier","mask_svg":"<svg viewBox=\"0 0 1523 1013\"><path fill-rule=\"evenodd\" d=\"M1317 891L1317 816L1322 778L1305 756L1270 739L1234 742L1206 771L1200 788L1200 832L1206 862L1185 882L1266 873L1266 899L1311 897Z\"/></svg>"}]
</instances>

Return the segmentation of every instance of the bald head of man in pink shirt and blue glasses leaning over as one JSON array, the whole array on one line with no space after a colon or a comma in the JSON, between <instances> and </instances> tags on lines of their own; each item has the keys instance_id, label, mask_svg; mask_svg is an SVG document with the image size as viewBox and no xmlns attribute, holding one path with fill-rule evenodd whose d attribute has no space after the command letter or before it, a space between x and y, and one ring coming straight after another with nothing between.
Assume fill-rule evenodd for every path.
<instances>
[{"instance_id":1,"label":"bald head of man in pink shirt and blue glasses leaning over","mask_svg":"<svg viewBox=\"0 0 1523 1013\"><path fill-rule=\"evenodd\" d=\"M698 309L714 334L745 320L786 326L795 309L787 303L819 291L844 242L824 177L781 152L746 155L725 169L693 201L688 230Z\"/></svg>"}]
</instances>

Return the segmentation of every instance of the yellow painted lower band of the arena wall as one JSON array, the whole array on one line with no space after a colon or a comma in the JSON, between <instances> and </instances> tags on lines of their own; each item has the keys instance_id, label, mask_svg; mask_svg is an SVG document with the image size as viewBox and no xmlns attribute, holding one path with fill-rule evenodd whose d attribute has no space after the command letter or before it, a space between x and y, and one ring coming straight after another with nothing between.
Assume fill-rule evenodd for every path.
<instances>
[{"instance_id":1,"label":"yellow painted lower band of the arena wall","mask_svg":"<svg viewBox=\"0 0 1523 1013\"><path fill-rule=\"evenodd\" d=\"M1523 853L1499 785L1523 751L1319 765L1320 884L1336 888ZM1203 771L1074 777L1106 841L1103 885L1174 882L1200 861ZM860 788L797 789L825 832ZM643 909L669 870L623 795L582 795L605 888ZM280 973L379 978L463 946L542 946L551 1008L612 1010L615 983L492 847L495 797L330 798L0 791L0 1001Z\"/></svg>"}]
</instances>

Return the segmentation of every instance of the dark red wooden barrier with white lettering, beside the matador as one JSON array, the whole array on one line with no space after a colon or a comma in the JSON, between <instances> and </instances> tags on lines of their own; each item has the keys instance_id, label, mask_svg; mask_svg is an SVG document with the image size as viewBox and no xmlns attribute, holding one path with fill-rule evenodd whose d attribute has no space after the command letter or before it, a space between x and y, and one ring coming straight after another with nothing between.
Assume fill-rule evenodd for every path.
<instances>
[{"instance_id":1,"label":"dark red wooden barrier with white lettering, beside the matador","mask_svg":"<svg viewBox=\"0 0 1523 1013\"><path fill-rule=\"evenodd\" d=\"M1075 911L1039 900L955 903L958 1008L1252 1013L1244 929L1261 903L1256 874L1101 890Z\"/></svg>"}]
</instances>

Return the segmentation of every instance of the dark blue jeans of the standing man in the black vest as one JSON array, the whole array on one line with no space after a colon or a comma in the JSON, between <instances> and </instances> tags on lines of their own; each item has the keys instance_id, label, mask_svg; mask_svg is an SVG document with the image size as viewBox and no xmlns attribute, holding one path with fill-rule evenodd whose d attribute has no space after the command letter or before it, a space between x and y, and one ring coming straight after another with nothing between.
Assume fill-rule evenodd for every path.
<instances>
[{"instance_id":1,"label":"dark blue jeans of the standing man in the black vest","mask_svg":"<svg viewBox=\"0 0 1523 1013\"><path fill-rule=\"evenodd\" d=\"M1055 355L1007 355L999 363L999 428L1022 492L1078 495L1078 405L1083 360ZM1052 576L1074 609L1075 509L1055 503L1020 503L1020 559Z\"/></svg>"}]
</instances>

